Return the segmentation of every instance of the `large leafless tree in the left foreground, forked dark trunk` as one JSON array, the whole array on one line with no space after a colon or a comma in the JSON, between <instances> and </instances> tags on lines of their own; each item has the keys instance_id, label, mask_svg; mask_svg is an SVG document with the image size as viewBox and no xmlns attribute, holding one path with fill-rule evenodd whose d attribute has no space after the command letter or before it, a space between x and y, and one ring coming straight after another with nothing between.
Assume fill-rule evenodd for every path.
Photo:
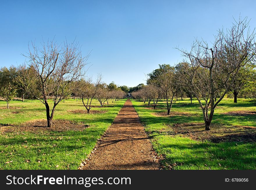
<instances>
[{"instance_id":1,"label":"large leafless tree in the left foreground, forked dark trunk","mask_svg":"<svg viewBox=\"0 0 256 190\"><path fill-rule=\"evenodd\" d=\"M42 43L41 48L32 43L32 50L29 48L26 57L29 58L30 66L34 68L38 79L38 93L31 93L45 105L47 127L51 127L56 106L74 91L72 81L84 76L84 66L89 54L83 57L76 42L64 42L63 46L59 46L54 41L47 41L46 44ZM38 94L43 97L43 101ZM47 98L49 95L53 97L54 103L51 111Z\"/></svg>"}]
</instances>

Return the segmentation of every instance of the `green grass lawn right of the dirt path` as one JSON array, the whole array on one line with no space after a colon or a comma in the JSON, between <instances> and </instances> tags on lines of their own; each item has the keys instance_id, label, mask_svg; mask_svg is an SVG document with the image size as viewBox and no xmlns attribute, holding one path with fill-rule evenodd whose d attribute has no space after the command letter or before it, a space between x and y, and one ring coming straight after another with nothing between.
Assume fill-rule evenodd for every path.
<instances>
[{"instance_id":1,"label":"green grass lawn right of the dirt path","mask_svg":"<svg viewBox=\"0 0 256 190\"><path fill-rule=\"evenodd\" d=\"M256 169L256 107L245 99L223 99L205 131L197 100L177 101L166 115L165 102L156 109L133 100L165 169Z\"/></svg>"}]
</instances>

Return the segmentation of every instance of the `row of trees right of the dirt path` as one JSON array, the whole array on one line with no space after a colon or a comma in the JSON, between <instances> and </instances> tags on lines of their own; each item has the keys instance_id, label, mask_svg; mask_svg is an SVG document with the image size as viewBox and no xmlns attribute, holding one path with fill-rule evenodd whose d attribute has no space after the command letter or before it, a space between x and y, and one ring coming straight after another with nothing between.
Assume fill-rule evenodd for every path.
<instances>
[{"instance_id":1,"label":"row of trees right of the dirt path","mask_svg":"<svg viewBox=\"0 0 256 190\"><path fill-rule=\"evenodd\" d=\"M148 74L148 86L132 95L148 103L153 99L157 102L153 97L165 98L167 114L178 94L186 94L191 100L195 97L205 130L210 130L214 109L228 92L234 94L234 102L239 92L255 98L255 31L250 31L248 24L246 18L239 17L230 29L218 31L211 47L203 40L195 40L190 50L177 47L184 61L173 67L159 65Z\"/></svg>"}]
</instances>

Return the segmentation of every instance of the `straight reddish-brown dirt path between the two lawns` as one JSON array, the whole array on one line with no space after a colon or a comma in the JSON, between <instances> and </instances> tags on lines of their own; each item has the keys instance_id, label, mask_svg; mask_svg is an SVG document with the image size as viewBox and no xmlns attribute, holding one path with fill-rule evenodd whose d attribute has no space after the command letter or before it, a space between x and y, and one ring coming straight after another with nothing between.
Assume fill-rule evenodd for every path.
<instances>
[{"instance_id":1,"label":"straight reddish-brown dirt path between the two lawns","mask_svg":"<svg viewBox=\"0 0 256 190\"><path fill-rule=\"evenodd\" d=\"M83 169L159 169L156 153L130 100Z\"/></svg>"}]
</instances>

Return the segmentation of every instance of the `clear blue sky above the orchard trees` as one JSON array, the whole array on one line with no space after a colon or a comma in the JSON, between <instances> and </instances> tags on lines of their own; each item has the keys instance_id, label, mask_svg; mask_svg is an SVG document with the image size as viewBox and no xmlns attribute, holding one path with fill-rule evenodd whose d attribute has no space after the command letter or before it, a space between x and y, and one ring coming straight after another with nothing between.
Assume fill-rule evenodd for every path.
<instances>
[{"instance_id":1,"label":"clear blue sky above the orchard trees","mask_svg":"<svg viewBox=\"0 0 256 190\"><path fill-rule=\"evenodd\" d=\"M75 38L92 65L88 74L128 87L145 83L158 64L182 61L173 47L189 48L195 37L210 42L233 17L251 19L256 1L1 1L0 67L25 61L30 40ZM233 17L232 17L233 16Z\"/></svg>"}]
</instances>

